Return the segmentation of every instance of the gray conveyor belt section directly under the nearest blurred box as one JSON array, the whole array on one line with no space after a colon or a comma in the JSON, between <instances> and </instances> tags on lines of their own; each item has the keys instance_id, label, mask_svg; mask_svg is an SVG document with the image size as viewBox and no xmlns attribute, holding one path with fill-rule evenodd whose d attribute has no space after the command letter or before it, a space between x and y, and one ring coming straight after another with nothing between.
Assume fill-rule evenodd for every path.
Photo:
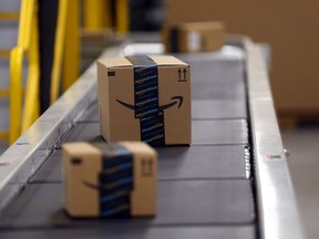
<instances>
[{"instance_id":1,"label":"gray conveyor belt section directly under the nearest blurred box","mask_svg":"<svg viewBox=\"0 0 319 239\"><path fill-rule=\"evenodd\" d=\"M162 180L154 218L120 220L137 226L247 225L255 221L250 180ZM117 220L107 220L116 225ZM62 184L31 184L6 209L0 228L104 227L105 221L72 220L63 210Z\"/></svg>"}]
</instances>

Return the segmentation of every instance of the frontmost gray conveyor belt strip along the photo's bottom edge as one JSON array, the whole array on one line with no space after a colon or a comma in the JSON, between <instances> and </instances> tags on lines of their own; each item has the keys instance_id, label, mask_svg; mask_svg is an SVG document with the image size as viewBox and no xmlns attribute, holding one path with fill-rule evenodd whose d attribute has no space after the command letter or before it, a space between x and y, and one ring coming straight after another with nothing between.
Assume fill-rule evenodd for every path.
<instances>
[{"instance_id":1,"label":"frontmost gray conveyor belt strip along the photo's bottom edge","mask_svg":"<svg viewBox=\"0 0 319 239\"><path fill-rule=\"evenodd\" d=\"M105 222L105 226L107 221ZM130 232L127 232L130 230ZM1 233L2 239L43 239L43 238L59 238L59 239L70 239L70 238L96 238L104 239L107 238L119 238L119 239L212 239L212 238L231 238L231 239L254 239L256 237L256 229L251 225L247 226L216 226L216 227L196 227L188 226L183 228L130 228L117 226L117 227L106 227L106 228L60 228L54 230L48 229L33 229L33 230L3 230Z\"/></svg>"}]
</instances>

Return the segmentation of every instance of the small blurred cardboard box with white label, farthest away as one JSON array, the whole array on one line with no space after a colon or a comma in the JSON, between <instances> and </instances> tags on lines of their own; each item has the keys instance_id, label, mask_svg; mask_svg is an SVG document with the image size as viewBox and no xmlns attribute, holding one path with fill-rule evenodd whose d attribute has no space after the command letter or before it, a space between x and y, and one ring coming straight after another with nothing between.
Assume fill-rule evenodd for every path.
<instances>
[{"instance_id":1,"label":"small blurred cardboard box with white label, farthest away","mask_svg":"<svg viewBox=\"0 0 319 239\"><path fill-rule=\"evenodd\" d=\"M166 52L217 51L224 45L223 22L167 24L162 31Z\"/></svg>"}]
</instances>

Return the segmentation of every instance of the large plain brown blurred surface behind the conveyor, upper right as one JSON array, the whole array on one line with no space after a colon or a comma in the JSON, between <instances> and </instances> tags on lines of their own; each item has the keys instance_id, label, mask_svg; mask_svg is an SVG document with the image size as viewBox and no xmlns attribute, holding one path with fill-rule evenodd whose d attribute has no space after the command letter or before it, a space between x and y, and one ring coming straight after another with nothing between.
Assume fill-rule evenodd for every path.
<instances>
[{"instance_id":1,"label":"large plain brown blurred surface behind the conveyor, upper right","mask_svg":"<svg viewBox=\"0 0 319 239\"><path fill-rule=\"evenodd\" d=\"M166 0L168 23L225 21L227 31L271 45L271 86L279 113L319 114L317 0Z\"/></svg>"}]
</instances>

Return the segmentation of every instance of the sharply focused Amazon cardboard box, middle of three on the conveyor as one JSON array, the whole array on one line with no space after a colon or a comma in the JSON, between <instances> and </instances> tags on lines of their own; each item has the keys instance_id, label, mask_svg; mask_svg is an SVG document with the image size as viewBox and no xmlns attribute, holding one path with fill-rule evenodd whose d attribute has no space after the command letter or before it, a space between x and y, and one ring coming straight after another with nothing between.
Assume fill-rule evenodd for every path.
<instances>
[{"instance_id":1,"label":"sharply focused Amazon cardboard box, middle of three on the conveyor","mask_svg":"<svg viewBox=\"0 0 319 239\"><path fill-rule=\"evenodd\" d=\"M191 144L189 70L167 55L99 60L103 137L153 146Z\"/></svg>"}]
</instances>

